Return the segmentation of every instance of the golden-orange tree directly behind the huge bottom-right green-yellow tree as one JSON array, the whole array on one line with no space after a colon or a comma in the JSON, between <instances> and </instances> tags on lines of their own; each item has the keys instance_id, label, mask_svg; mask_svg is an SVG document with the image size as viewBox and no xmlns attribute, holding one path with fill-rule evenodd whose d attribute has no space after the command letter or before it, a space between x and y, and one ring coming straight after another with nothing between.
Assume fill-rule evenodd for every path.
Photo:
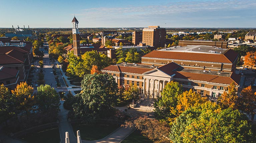
<instances>
[{"instance_id":1,"label":"golden-orange tree directly behind the huge bottom-right green-yellow tree","mask_svg":"<svg viewBox=\"0 0 256 143\"><path fill-rule=\"evenodd\" d=\"M185 91L178 96L178 105L176 108L179 113L182 113L188 108L198 106L206 101L206 97L201 97L200 94L193 92L192 89L190 89L189 91Z\"/></svg>"}]
</instances>

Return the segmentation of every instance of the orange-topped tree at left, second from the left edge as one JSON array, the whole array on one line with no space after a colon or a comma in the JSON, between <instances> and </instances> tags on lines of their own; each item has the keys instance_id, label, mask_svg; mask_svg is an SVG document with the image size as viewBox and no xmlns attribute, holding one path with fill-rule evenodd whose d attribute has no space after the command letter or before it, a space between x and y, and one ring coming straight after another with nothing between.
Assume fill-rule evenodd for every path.
<instances>
[{"instance_id":1,"label":"orange-topped tree at left, second from the left edge","mask_svg":"<svg viewBox=\"0 0 256 143\"><path fill-rule=\"evenodd\" d=\"M26 82L22 82L17 85L17 87L12 90L12 94L16 97L16 104L18 110L28 111L34 105L34 88L28 86Z\"/></svg>"}]
</instances>

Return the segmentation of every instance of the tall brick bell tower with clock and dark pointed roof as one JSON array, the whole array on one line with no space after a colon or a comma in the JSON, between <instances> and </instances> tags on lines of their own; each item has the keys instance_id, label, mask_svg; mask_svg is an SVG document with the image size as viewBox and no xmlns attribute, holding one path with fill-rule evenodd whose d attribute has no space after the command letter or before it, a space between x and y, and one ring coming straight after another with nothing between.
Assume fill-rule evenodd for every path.
<instances>
[{"instance_id":1,"label":"tall brick bell tower with clock and dark pointed roof","mask_svg":"<svg viewBox=\"0 0 256 143\"><path fill-rule=\"evenodd\" d=\"M72 36L73 36L73 49L74 55L77 57L81 55L80 51L80 37L79 37L79 30L78 30L78 20L74 17L72 20Z\"/></svg>"}]
</instances>

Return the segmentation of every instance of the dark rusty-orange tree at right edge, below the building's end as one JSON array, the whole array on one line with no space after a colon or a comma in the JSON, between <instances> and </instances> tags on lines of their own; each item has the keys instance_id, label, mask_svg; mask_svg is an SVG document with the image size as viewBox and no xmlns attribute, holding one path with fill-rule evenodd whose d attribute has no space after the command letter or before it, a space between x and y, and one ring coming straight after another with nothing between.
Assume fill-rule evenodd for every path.
<instances>
[{"instance_id":1,"label":"dark rusty-orange tree at right edge, below the building's end","mask_svg":"<svg viewBox=\"0 0 256 143\"><path fill-rule=\"evenodd\" d=\"M239 109L246 113L255 113L256 95L252 91L252 87L243 88L241 96L238 98Z\"/></svg>"}]
</instances>

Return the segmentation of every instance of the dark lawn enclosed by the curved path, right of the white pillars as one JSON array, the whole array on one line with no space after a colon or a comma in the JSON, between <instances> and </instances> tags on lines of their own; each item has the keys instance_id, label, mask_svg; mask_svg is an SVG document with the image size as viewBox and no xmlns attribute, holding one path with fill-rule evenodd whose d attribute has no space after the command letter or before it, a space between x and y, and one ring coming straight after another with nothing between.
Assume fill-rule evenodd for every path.
<instances>
[{"instance_id":1,"label":"dark lawn enclosed by the curved path, right of the white pillars","mask_svg":"<svg viewBox=\"0 0 256 143\"><path fill-rule=\"evenodd\" d=\"M81 125L81 124L72 124L72 128L74 134L76 134L77 130L80 130L80 135L82 140L92 141L99 140L114 130L116 130L119 126L117 125L109 125L109 124L92 124L92 125Z\"/></svg>"}]
</instances>

